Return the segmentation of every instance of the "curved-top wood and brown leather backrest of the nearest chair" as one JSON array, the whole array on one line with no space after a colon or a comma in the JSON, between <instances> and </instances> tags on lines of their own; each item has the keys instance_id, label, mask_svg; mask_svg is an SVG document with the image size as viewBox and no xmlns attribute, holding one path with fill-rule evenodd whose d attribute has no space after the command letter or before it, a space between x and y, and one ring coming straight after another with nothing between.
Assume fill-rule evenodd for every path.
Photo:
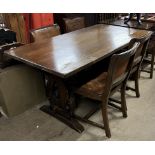
<instances>
[{"instance_id":1,"label":"curved-top wood and brown leather backrest of the nearest chair","mask_svg":"<svg viewBox=\"0 0 155 155\"><path fill-rule=\"evenodd\" d=\"M131 72L134 57L140 43L135 42L133 47L125 52L114 54L110 59L107 74L107 82L103 95L109 95L113 89L118 87L122 82L126 82Z\"/></svg>"}]
</instances>

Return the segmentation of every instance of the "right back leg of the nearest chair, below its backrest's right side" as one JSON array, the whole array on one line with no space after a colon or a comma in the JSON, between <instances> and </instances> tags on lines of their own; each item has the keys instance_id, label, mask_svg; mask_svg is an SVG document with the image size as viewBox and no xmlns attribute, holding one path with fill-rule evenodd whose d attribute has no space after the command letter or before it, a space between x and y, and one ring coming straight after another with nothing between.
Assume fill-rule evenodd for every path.
<instances>
[{"instance_id":1,"label":"right back leg of the nearest chair, below its backrest's right side","mask_svg":"<svg viewBox=\"0 0 155 155\"><path fill-rule=\"evenodd\" d=\"M124 118L127 117L127 106L126 106L126 99L125 99L125 90L126 90L126 86L125 86L125 84L123 84L122 87L121 87L121 108L122 108L122 113L123 113Z\"/></svg>"}]
</instances>

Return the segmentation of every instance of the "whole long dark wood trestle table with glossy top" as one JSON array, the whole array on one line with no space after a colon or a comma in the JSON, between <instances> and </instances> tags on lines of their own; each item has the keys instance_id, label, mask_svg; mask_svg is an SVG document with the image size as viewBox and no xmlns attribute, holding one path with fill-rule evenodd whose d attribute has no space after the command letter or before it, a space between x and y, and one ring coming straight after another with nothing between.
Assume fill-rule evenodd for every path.
<instances>
[{"instance_id":1,"label":"whole long dark wood trestle table with glossy top","mask_svg":"<svg viewBox=\"0 0 155 155\"><path fill-rule=\"evenodd\" d=\"M135 29L129 31L121 27L100 24L5 53L46 72L49 77L47 86L50 110L49 107L43 107L42 110L63 120L76 131L82 132L82 126L73 116L76 106L74 91L95 77L95 74L100 73L98 70L102 69L100 66L104 64L105 59L126 47L132 38L149 33L151 32Z\"/></svg>"}]
</instances>

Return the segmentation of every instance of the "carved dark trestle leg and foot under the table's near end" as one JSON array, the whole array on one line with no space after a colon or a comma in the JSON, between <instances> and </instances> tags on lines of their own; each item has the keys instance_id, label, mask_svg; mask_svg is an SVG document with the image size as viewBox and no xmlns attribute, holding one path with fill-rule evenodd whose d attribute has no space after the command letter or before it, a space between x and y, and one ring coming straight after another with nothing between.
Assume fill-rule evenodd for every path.
<instances>
[{"instance_id":1,"label":"carved dark trestle leg and foot under the table's near end","mask_svg":"<svg viewBox=\"0 0 155 155\"><path fill-rule=\"evenodd\" d=\"M50 105L44 105L40 109L81 133L84 128L73 115L75 108L73 93L69 91L62 79L51 75L46 78Z\"/></svg>"}]
</instances>

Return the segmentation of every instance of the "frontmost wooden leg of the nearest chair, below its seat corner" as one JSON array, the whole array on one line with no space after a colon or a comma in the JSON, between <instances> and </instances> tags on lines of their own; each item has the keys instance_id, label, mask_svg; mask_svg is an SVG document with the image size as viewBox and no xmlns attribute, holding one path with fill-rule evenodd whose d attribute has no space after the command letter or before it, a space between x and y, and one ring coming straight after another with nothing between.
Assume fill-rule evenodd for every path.
<instances>
[{"instance_id":1,"label":"frontmost wooden leg of the nearest chair, below its seat corner","mask_svg":"<svg viewBox=\"0 0 155 155\"><path fill-rule=\"evenodd\" d=\"M111 137L111 132L109 128L109 120L108 120L108 113L107 113L107 104L102 104L102 117L103 117L103 123L105 128L105 134L108 138Z\"/></svg>"}]
</instances>

